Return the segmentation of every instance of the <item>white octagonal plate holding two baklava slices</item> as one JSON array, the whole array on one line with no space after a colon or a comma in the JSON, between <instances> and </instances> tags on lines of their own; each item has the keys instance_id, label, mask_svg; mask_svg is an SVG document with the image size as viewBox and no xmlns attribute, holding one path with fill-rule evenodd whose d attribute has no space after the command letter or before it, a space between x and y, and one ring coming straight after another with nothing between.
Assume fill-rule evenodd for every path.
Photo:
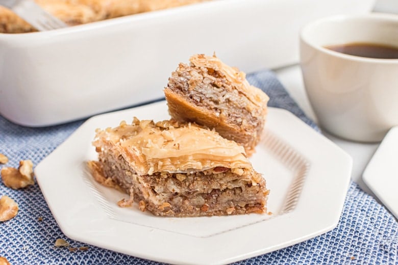
<instances>
[{"instance_id":1,"label":"white octagonal plate holding two baklava slices","mask_svg":"<svg viewBox=\"0 0 398 265\"><path fill-rule=\"evenodd\" d=\"M119 208L126 194L93 181L86 162L96 128L121 120L168 119L165 101L87 120L35 169L44 197L71 239L157 261L224 264L281 249L333 229L349 186L352 159L288 111L269 108L251 157L264 175L271 214L166 218ZM67 200L65 196L69 194Z\"/></svg>"}]
</instances>

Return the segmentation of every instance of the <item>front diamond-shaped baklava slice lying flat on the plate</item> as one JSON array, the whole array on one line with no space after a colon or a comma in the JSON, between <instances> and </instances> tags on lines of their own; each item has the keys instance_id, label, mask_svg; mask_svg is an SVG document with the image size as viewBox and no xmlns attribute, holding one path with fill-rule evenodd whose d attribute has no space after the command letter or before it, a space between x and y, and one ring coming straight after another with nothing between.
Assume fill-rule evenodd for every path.
<instances>
[{"instance_id":1,"label":"front diamond-shaped baklava slice lying flat on the plate","mask_svg":"<svg viewBox=\"0 0 398 265\"><path fill-rule=\"evenodd\" d=\"M244 148L194 123L152 120L98 129L91 173L157 216L265 213L268 190ZM120 205L129 205L122 201Z\"/></svg>"}]
</instances>

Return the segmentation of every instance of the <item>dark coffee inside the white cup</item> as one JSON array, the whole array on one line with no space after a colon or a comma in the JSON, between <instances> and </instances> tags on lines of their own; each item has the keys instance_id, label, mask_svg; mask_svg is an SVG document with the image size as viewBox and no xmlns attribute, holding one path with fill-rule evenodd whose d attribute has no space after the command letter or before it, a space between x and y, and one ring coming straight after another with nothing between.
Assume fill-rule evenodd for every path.
<instances>
[{"instance_id":1,"label":"dark coffee inside the white cup","mask_svg":"<svg viewBox=\"0 0 398 265\"><path fill-rule=\"evenodd\" d=\"M329 45L325 48L341 52L342 54L354 55L378 59L398 59L398 47L377 43L347 43L340 45Z\"/></svg>"}]
</instances>

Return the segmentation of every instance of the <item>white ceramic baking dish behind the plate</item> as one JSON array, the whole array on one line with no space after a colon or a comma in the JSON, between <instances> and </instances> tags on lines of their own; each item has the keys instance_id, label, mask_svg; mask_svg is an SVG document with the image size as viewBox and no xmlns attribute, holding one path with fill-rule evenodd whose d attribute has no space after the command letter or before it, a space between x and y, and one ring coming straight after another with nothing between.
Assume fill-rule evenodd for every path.
<instances>
[{"instance_id":1,"label":"white ceramic baking dish behind the plate","mask_svg":"<svg viewBox=\"0 0 398 265\"><path fill-rule=\"evenodd\" d=\"M298 33L375 0L218 0L49 32L0 34L0 114L46 126L163 97L195 53L246 72L298 61Z\"/></svg>"}]
</instances>

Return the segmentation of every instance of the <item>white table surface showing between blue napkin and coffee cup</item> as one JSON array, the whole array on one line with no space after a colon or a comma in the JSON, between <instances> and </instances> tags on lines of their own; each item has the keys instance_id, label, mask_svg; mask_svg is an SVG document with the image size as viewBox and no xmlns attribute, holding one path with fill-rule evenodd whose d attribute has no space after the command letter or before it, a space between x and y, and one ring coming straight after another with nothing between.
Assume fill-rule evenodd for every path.
<instances>
[{"instance_id":1,"label":"white table surface showing between blue napkin and coffee cup","mask_svg":"<svg viewBox=\"0 0 398 265\"><path fill-rule=\"evenodd\" d=\"M291 97L297 102L297 104L299 104L305 114L316 122L316 116L311 108L311 104L309 103L304 88L300 66L293 65L277 69L275 71L279 80L284 85L286 90L290 93ZM351 176L352 179L359 184L362 190L377 199L377 197L363 182L362 173L369 163L371 157L375 153L379 144L358 143L343 140L329 135L325 130L322 130L322 133L335 144L337 144L340 148L342 148L344 151L351 155L351 157L353 158L353 172Z\"/></svg>"}]
</instances>

